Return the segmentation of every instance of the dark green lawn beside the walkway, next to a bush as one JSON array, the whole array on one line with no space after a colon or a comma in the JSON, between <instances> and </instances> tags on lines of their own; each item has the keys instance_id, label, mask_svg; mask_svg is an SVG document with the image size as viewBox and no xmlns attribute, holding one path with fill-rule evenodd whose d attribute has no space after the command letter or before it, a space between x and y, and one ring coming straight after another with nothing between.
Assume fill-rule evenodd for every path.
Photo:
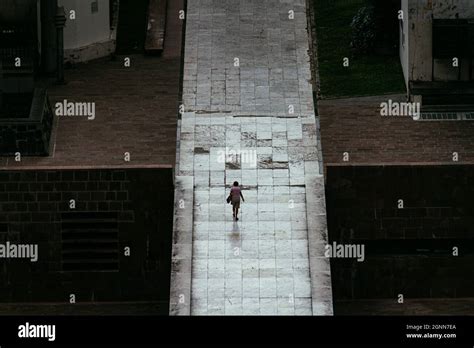
<instances>
[{"instance_id":1,"label":"dark green lawn beside the walkway, next to a bush","mask_svg":"<svg viewBox=\"0 0 474 348\"><path fill-rule=\"evenodd\" d=\"M315 9L322 98L404 93L398 54L354 56L350 23L367 0L311 0ZM343 59L350 59L343 67Z\"/></svg>"}]
</instances>

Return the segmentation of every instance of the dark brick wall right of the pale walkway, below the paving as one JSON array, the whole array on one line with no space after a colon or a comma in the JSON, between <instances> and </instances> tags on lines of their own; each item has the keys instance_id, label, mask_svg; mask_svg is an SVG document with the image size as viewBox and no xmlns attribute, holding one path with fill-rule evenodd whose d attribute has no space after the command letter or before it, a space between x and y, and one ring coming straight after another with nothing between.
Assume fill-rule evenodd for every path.
<instances>
[{"instance_id":1,"label":"dark brick wall right of the pale walkway, below the paving","mask_svg":"<svg viewBox=\"0 0 474 348\"><path fill-rule=\"evenodd\" d=\"M366 253L331 260L336 300L473 297L473 169L328 167L330 242Z\"/></svg>"}]
</instances>

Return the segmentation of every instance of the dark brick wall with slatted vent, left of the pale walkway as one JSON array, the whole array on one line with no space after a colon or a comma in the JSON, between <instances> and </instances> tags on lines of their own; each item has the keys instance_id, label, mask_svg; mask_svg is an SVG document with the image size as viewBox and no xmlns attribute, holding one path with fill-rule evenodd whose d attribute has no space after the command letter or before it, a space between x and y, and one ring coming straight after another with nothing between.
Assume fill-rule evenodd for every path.
<instances>
[{"instance_id":1,"label":"dark brick wall with slatted vent, left of the pale walkway","mask_svg":"<svg viewBox=\"0 0 474 348\"><path fill-rule=\"evenodd\" d=\"M0 171L0 211L0 243L39 245L36 263L1 260L0 301L65 302L74 293L77 302L161 301L167 313L171 170ZM97 218L115 219L109 225L118 229L118 269L65 270L65 226L88 216L93 226ZM102 233L92 227L87 238L97 238L94 231Z\"/></svg>"}]
</instances>

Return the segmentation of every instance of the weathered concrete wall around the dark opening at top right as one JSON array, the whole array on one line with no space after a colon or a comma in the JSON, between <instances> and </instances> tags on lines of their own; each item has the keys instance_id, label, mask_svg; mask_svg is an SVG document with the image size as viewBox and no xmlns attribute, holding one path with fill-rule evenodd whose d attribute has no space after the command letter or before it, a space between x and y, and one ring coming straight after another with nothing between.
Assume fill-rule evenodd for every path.
<instances>
[{"instance_id":1,"label":"weathered concrete wall around the dark opening at top right","mask_svg":"<svg viewBox=\"0 0 474 348\"><path fill-rule=\"evenodd\" d=\"M433 77L432 19L474 18L474 1L402 0L402 7L405 7L409 27L408 80L431 81ZM402 64L404 64L403 59ZM435 61L435 80L457 79L457 73L449 69L449 64L450 62L446 60ZM461 62L462 65L466 64ZM467 79L468 69L463 69L461 75L462 79Z\"/></svg>"}]
</instances>

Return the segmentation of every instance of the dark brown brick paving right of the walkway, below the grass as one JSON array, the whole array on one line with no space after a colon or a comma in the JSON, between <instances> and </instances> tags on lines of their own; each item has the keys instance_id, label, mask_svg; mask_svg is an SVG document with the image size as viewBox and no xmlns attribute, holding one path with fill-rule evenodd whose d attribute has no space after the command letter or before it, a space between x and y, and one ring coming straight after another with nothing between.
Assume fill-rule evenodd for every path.
<instances>
[{"instance_id":1,"label":"dark brown brick paving right of the walkway, below the grass","mask_svg":"<svg viewBox=\"0 0 474 348\"><path fill-rule=\"evenodd\" d=\"M321 117L326 166L361 164L472 164L474 122L415 122L380 116L380 103L394 97L324 100ZM343 162L349 152L350 162ZM459 153L453 163L452 153Z\"/></svg>"}]
</instances>

